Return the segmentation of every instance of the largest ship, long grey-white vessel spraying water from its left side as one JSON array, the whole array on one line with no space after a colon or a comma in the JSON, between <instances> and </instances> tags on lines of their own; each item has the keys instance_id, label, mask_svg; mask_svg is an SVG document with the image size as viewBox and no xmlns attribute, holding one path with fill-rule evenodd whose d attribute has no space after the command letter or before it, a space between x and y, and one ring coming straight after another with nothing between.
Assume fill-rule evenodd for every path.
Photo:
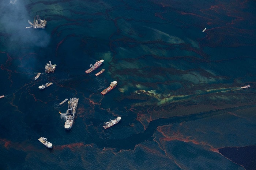
<instances>
[{"instance_id":1,"label":"largest ship, long grey-white vessel spraying water from its left side","mask_svg":"<svg viewBox=\"0 0 256 170\"><path fill-rule=\"evenodd\" d=\"M66 113L60 112L60 118L65 118L65 129L69 130L74 124L74 119L76 115L76 108L78 106L78 98L71 98L68 101L68 110Z\"/></svg>"}]
</instances>

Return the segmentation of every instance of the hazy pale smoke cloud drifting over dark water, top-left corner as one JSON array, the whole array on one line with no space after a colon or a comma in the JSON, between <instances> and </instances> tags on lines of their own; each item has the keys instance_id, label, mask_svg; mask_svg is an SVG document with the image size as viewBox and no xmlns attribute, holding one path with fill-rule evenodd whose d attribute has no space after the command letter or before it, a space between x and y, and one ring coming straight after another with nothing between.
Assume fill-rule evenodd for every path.
<instances>
[{"instance_id":1,"label":"hazy pale smoke cloud drifting over dark water, top-left corner","mask_svg":"<svg viewBox=\"0 0 256 170\"><path fill-rule=\"evenodd\" d=\"M29 16L23 0L0 1L0 33L4 36L1 44L4 44L7 50L11 50L13 46L19 48L48 45L50 35L45 30L25 29L30 26L27 20L34 20L34 17Z\"/></svg>"}]
</instances>

